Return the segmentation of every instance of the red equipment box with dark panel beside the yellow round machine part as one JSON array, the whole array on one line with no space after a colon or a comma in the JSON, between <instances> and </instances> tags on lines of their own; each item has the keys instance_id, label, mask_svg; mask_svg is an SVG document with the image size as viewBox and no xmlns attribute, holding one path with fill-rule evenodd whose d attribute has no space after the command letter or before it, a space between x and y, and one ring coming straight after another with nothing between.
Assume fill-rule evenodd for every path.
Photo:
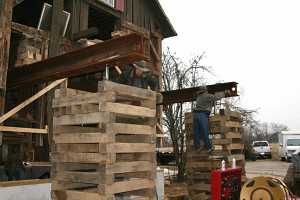
<instances>
[{"instance_id":1,"label":"red equipment box with dark panel beside the yellow round machine part","mask_svg":"<svg viewBox=\"0 0 300 200\"><path fill-rule=\"evenodd\" d=\"M216 170L211 173L212 200L239 200L242 169Z\"/></svg>"}]
</instances>

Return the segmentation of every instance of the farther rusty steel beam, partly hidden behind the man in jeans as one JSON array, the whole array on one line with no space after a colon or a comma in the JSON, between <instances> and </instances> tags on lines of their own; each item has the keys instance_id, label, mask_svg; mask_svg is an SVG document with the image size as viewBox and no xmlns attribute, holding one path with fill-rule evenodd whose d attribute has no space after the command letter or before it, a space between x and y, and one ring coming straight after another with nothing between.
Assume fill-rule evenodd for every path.
<instances>
[{"instance_id":1,"label":"farther rusty steel beam, partly hidden behind the man in jeans","mask_svg":"<svg viewBox=\"0 0 300 200\"><path fill-rule=\"evenodd\" d=\"M207 90L209 93L213 94L215 92L223 92L225 90L230 91L230 93L226 94L226 97L235 97L238 96L237 93L237 85L236 82L228 82L228 83L218 83L214 85L207 85ZM163 100L159 102L159 105L170 105L174 103L184 103L184 102L192 102L196 100L196 92L199 91L199 87L194 88L186 88L182 90L172 90L162 92Z\"/></svg>"}]
</instances>

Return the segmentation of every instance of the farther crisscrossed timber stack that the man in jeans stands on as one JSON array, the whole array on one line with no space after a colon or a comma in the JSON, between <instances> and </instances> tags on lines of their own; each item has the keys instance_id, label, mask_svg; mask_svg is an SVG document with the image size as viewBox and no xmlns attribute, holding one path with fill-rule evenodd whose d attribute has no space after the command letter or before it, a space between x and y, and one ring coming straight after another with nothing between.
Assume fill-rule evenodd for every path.
<instances>
[{"instance_id":1,"label":"farther crisscrossed timber stack that the man in jeans stands on","mask_svg":"<svg viewBox=\"0 0 300 200\"><path fill-rule=\"evenodd\" d=\"M210 118L210 137L212 137L214 150L209 154L207 150L195 150L193 115L186 113L187 184L192 200L211 199L211 172L221 168L222 160L225 160L230 167L232 159L235 158L237 167L244 169L245 157L244 145L241 142L240 119L239 113L231 111Z\"/></svg>"}]
</instances>

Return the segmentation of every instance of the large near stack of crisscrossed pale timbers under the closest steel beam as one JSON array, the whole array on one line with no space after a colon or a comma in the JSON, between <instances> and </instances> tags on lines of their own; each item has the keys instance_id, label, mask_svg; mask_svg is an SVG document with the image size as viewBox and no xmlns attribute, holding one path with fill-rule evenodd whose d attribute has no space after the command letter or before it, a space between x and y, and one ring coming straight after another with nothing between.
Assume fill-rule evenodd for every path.
<instances>
[{"instance_id":1,"label":"large near stack of crisscrossed pale timbers under the closest steel beam","mask_svg":"<svg viewBox=\"0 0 300 200\"><path fill-rule=\"evenodd\" d=\"M156 93L109 81L53 101L52 196L154 199Z\"/></svg>"}]
</instances>

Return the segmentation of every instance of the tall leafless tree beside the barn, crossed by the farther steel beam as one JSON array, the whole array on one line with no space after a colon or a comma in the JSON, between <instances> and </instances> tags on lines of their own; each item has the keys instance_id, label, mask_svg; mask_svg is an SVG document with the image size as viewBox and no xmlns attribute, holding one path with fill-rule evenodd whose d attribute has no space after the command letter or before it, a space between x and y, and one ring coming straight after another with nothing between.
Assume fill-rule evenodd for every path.
<instances>
[{"instance_id":1,"label":"tall leafless tree beside the barn, crossed by the farther steel beam","mask_svg":"<svg viewBox=\"0 0 300 200\"><path fill-rule=\"evenodd\" d=\"M163 90L178 90L195 87L205 83L205 74L211 73L208 67L200 64L204 54L196 56L186 64L174 53L167 49L163 54L162 81ZM185 131L184 114L190 111L190 106L176 103L164 107L163 125L171 136L176 165L178 167L178 181L184 180L185 175Z\"/></svg>"}]
</instances>

